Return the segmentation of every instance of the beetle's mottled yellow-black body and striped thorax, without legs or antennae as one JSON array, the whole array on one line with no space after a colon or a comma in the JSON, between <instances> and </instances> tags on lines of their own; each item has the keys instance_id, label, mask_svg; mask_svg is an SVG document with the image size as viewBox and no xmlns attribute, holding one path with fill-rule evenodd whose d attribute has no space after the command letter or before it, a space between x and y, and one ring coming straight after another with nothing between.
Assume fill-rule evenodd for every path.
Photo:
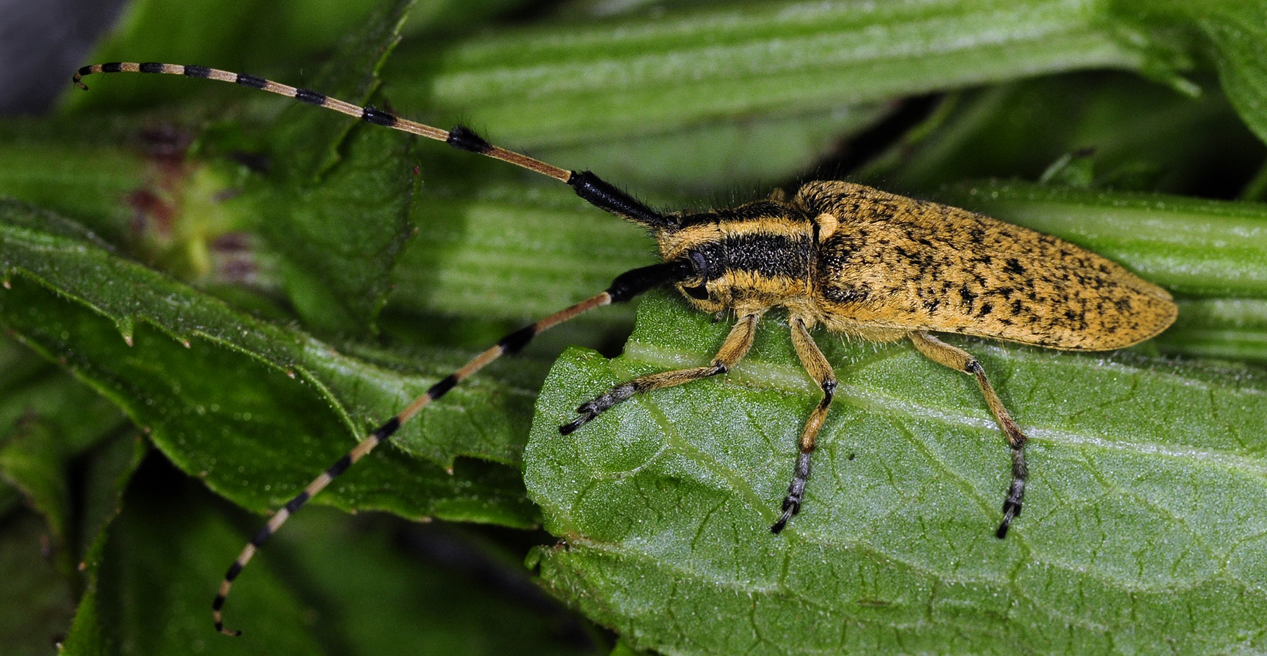
<instances>
[{"instance_id":1,"label":"beetle's mottled yellow-black body and striped thorax, without legs or antennae","mask_svg":"<svg viewBox=\"0 0 1267 656\"><path fill-rule=\"evenodd\" d=\"M1069 242L959 208L851 182L789 200L679 215L656 230L698 310L787 308L807 327L872 341L911 331L1107 351L1173 323L1169 293Z\"/></svg>"}]
</instances>

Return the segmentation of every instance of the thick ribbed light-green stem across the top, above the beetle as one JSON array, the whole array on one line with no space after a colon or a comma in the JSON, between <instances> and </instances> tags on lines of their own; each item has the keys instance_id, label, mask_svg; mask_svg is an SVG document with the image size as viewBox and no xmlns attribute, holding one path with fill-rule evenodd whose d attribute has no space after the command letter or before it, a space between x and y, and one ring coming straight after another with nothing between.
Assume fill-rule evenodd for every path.
<instances>
[{"instance_id":1,"label":"thick ribbed light-green stem across the top, above the beetle","mask_svg":"<svg viewBox=\"0 0 1267 656\"><path fill-rule=\"evenodd\" d=\"M1102 18L1064 0L723 4L471 38L443 53L426 91L512 143L545 146L1159 57Z\"/></svg>"}]
</instances>

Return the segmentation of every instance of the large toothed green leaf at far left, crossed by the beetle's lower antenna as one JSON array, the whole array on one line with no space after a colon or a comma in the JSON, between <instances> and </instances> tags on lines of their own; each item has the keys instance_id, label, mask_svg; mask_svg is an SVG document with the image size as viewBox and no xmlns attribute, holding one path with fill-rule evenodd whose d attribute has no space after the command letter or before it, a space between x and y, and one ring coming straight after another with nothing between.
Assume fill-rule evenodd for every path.
<instances>
[{"instance_id":1,"label":"large toothed green leaf at far left, crossed by the beetle's lower antenna","mask_svg":"<svg viewBox=\"0 0 1267 656\"><path fill-rule=\"evenodd\" d=\"M258 510L285 500L464 360L436 356L419 375L384 370L236 312L119 258L73 223L14 203L0 203L0 275L9 329L152 428L177 466ZM455 401L402 431L399 450L380 452L378 465L318 499L414 518L531 524L509 419L527 417L531 396L492 376L462 386Z\"/></svg>"}]
</instances>

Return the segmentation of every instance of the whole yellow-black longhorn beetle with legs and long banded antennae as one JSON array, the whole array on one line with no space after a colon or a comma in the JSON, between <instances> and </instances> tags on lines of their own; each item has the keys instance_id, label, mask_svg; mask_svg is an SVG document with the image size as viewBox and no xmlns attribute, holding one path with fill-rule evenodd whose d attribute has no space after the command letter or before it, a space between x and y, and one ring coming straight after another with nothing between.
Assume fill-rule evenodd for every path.
<instances>
[{"instance_id":1,"label":"whole yellow-black longhorn beetle with legs and long banded antennae","mask_svg":"<svg viewBox=\"0 0 1267 656\"><path fill-rule=\"evenodd\" d=\"M672 285L693 308L734 312L739 320L713 361L702 367L639 376L576 408L561 426L569 434L635 394L672 388L730 371L753 346L756 324L772 308L786 308L792 346L822 400L801 432L801 452L782 514L779 533L801 510L810 479L815 437L831 405L836 376L810 336L829 331L873 342L910 339L934 362L974 376L986 405L1011 447L1012 476L996 536L1003 538L1021 513L1025 496L1025 433L998 399L986 371L967 351L934 332L988 337L1067 351L1107 351L1143 342L1177 313L1171 295L1121 266L1068 242L968 210L914 200L850 182L802 185L789 199L782 191L731 209L661 213L635 200L589 171L569 171L507 151L461 125L442 130L360 106L308 89L253 75L171 63L85 66L73 82L91 73L143 72L207 77L294 98L350 117L427 137L509 162L565 182L582 199L647 228L663 262L626 271L603 293L503 337L470 362L431 386L399 414L374 429L351 452L308 484L269 519L233 561L213 602L215 628L242 567L293 513L431 401L504 353L523 348L537 333L594 308L622 303L651 287Z\"/></svg>"}]
</instances>

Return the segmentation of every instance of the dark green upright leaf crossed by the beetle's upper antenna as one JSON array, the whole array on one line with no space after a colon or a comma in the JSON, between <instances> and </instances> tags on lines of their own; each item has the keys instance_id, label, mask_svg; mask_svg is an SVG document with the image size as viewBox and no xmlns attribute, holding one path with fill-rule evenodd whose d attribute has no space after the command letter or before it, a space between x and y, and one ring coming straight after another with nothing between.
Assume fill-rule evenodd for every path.
<instances>
[{"instance_id":1,"label":"dark green upright leaf crossed by the beetle's upper antenna","mask_svg":"<svg viewBox=\"0 0 1267 656\"><path fill-rule=\"evenodd\" d=\"M343 38L312 84L364 105L379 86L379 67L400 39L412 4L380 4ZM277 165L257 199L257 230L281 256L281 279L295 310L315 329L372 333L411 234L417 176L411 173L409 139L296 103L266 134L267 155Z\"/></svg>"}]
</instances>

